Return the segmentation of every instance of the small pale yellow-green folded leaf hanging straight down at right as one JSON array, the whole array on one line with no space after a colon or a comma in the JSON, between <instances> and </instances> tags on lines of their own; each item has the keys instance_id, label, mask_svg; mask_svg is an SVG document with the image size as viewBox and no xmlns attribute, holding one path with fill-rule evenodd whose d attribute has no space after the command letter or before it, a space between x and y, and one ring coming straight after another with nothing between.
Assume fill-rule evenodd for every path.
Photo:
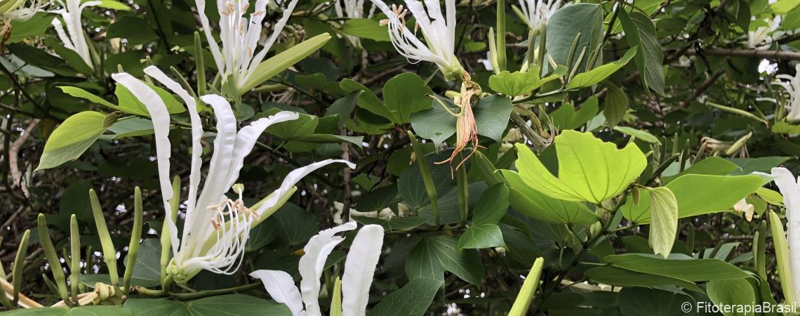
<instances>
[{"instance_id":1,"label":"small pale yellow-green folded leaf hanging straight down at right","mask_svg":"<svg viewBox=\"0 0 800 316\"><path fill-rule=\"evenodd\" d=\"M664 186L647 189L650 192L650 236L647 241L655 254L664 258L670 255L675 235L678 234L678 201Z\"/></svg>"}]
</instances>

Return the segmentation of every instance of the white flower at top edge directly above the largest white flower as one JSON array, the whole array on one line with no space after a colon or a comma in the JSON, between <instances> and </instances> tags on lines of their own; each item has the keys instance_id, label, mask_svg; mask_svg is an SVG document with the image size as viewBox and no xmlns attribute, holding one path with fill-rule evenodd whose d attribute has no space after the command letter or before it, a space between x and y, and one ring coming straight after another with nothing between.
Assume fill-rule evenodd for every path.
<instances>
[{"instance_id":1,"label":"white flower at top edge directly above the largest white flower","mask_svg":"<svg viewBox=\"0 0 800 316\"><path fill-rule=\"evenodd\" d=\"M289 2L286 10L283 10L282 17L274 24L274 30L266 42L261 42L262 22L266 15L266 6L270 0L256 0L255 10L246 18L247 10L250 8L249 0L217 0L217 10L219 12L219 38L222 39L222 49L211 33L211 26L206 17L206 0L196 0L200 22L203 32L206 33L206 40L209 43L211 54L214 55L214 62L217 64L222 82L233 80L236 88L242 88L247 79L253 75L256 67L266 57L270 47L278 39L283 26L289 20L294 6L298 0ZM262 46L258 50L259 43ZM258 51L258 53L256 52Z\"/></svg>"}]
</instances>

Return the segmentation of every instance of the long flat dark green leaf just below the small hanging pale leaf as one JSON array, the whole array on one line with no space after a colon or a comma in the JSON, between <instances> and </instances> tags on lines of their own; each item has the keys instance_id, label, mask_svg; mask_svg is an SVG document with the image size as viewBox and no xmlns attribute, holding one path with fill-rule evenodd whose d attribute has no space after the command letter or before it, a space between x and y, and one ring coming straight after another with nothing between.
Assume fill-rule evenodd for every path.
<instances>
[{"instance_id":1,"label":"long flat dark green leaf just below the small hanging pale leaf","mask_svg":"<svg viewBox=\"0 0 800 316\"><path fill-rule=\"evenodd\" d=\"M720 259L694 259L682 254L679 256L677 259L665 259L653 254L616 254L607 256L606 262L626 270L688 282L750 277L750 274Z\"/></svg>"}]
</instances>

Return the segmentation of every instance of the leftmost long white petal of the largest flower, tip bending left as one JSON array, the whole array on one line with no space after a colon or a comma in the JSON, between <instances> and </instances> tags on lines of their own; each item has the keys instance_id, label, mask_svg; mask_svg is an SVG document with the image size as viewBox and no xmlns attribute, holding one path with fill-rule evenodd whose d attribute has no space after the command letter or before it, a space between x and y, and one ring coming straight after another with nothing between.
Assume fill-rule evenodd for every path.
<instances>
[{"instance_id":1,"label":"leftmost long white petal of the largest flower, tip bending left","mask_svg":"<svg viewBox=\"0 0 800 316\"><path fill-rule=\"evenodd\" d=\"M153 121L155 134L156 162L158 164L158 182L161 185L162 202L164 210L170 210L170 198L174 196L172 183L170 182L170 113L166 110L166 105L156 92L139 81L134 76L126 73L112 74L111 78L124 86L134 97L142 102L147 111L150 112L150 119ZM171 216L165 216L164 222L170 230L170 240L174 254L178 251L178 227L172 221Z\"/></svg>"}]
</instances>

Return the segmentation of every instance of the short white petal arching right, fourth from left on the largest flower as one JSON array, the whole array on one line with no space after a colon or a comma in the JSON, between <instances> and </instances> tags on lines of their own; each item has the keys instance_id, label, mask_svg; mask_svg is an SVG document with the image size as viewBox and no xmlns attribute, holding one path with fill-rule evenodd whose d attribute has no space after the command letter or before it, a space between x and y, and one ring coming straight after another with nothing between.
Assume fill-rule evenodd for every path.
<instances>
[{"instance_id":1,"label":"short white petal arching right, fourth from left on the largest flower","mask_svg":"<svg viewBox=\"0 0 800 316\"><path fill-rule=\"evenodd\" d=\"M293 121L299 117L296 112L281 111L271 115L269 118L258 119L258 121L252 122L250 125L243 127L242 130L239 130L234 143L234 157L230 161L230 167L228 167L227 186L233 186L236 179L239 178L239 171L244 166L245 157L253 150L255 142L258 141L258 136L267 127L279 122Z\"/></svg>"}]
</instances>

